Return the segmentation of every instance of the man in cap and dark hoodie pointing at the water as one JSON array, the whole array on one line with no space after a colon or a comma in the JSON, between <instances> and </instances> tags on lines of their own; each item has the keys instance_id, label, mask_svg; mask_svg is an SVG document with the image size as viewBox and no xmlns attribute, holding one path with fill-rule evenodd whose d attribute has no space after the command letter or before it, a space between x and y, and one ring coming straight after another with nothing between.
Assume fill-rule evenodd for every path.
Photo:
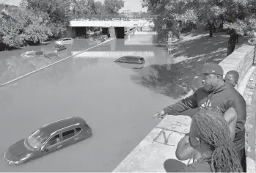
<instances>
[{"instance_id":1,"label":"man in cap and dark hoodie pointing at the water","mask_svg":"<svg viewBox=\"0 0 256 173\"><path fill-rule=\"evenodd\" d=\"M203 87L197 89L193 95L180 100L171 106L158 111L153 117L160 119L167 114L182 113L191 108L218 111L230 124L236 117L235 134L231 134L238 155L244 155L245 150L245 122L246 102L244 97L230 85L223 81L223 69L220 65L207 63L202 70ZM184 160L186 160L184 158ZM246 165L241 158L242 165ZM243 163L244 162L244 163ZM246 168L244 168L246 170Z\"/></svg>"}]
</instances>

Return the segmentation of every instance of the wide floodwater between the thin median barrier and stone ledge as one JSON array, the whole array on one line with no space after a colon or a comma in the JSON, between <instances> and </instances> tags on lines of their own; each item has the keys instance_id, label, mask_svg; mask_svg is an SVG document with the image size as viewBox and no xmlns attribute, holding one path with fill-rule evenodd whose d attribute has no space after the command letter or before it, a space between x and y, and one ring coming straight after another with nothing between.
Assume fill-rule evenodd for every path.
<instances>
[{"instance_id":1,"label":"wide floodwater between the thin median barrier and stone ledge","mask_svg":"<svg viewBox=\"0 0 256 173\"><path fill-rule=\"evenodd\" d=\"M80 48L72 45L63 54L81 51L76 41ZM128 54L144 56L144 67L113 62ZM173 82L170 78L172 59L157 45L156 35L144 31L1 87L0 155L37 128L66 117L83 117L93 136L21 166L1 160L0 171L111 172L158 124L153 114L181 97L172 85L163 87Z\"/></svg>"}]
</instances>

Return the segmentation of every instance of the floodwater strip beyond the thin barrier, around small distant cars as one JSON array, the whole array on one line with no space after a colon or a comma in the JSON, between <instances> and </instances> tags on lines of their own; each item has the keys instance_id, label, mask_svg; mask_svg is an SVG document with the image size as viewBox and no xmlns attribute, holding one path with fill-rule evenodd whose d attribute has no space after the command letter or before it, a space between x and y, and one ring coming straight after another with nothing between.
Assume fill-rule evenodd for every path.
<instances>
[{"instance_id":1,"label":"floodwater strip beyond the thin barrier, around small distant cars","mask_svg":"<svg viewBox=\"0 0 256 173\"><path fill-rule=\"evenodd\" d=\"M67 49L59 51L59 58L48 59L43 56L37 56L35 58L23 57L21 54L25 51L51 51L51 48L56 45L55 41L45 43L45 45L31 45L20 48L14 51L1 51L0 52L0 84L4 84L19 76L23 76L26 73L37 70L46 65L50 65L60 59L63 59L71 55L72 51L83 51L99 42L97 39L74 39L73 45L66 45Z\"/></svg>"}]
</instances>

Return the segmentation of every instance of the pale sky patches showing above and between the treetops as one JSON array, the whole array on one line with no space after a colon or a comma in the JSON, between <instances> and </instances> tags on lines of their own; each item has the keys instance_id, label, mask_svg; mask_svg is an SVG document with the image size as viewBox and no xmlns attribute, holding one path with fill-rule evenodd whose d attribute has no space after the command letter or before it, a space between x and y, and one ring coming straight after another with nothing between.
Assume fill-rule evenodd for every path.
<instances>
[{"instance_id":1,"label":"pale sky patches showing above and between the treetops","mask_svg":"<svg viewBox=\"0 0 256 173\"><path fill-rule=\"evenodd\" d=\"M3 2L5 0L0 0L0 2ZM21 0L7 0L4 3L6 4L12 4L12 5L18 5ZM49 0L51 1L51 0ZM104 0L95 0L95 1L104 1ZM147 8L142 8L141 0L124 0L125 1L125 7L120 10L122 12L123 10L131 10L132 12L139 12L142 10L142 12L147 12Z\"/></svg>"}]
</instances>

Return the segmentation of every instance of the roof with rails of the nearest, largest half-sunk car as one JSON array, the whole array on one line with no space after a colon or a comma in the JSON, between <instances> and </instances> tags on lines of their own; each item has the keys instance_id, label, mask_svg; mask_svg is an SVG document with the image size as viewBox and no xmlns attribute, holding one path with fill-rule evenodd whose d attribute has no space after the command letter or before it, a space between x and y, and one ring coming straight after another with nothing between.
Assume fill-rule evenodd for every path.
<instances>
[{"instance_id":1,"label":"roof with rails of the nearest, largest half-sunk car","mask_svg":"<svg viewBox=\"0 0 256 173\"><path fill-rule=\"evenodd\" d=\"M51 133L54 133L56 130L67 128L71 125L86 125L86 122L81 117L69 117L44 125L42 128L40 128L40 130L48 135L51 135Z\"/></svg>"}]
</instances>

